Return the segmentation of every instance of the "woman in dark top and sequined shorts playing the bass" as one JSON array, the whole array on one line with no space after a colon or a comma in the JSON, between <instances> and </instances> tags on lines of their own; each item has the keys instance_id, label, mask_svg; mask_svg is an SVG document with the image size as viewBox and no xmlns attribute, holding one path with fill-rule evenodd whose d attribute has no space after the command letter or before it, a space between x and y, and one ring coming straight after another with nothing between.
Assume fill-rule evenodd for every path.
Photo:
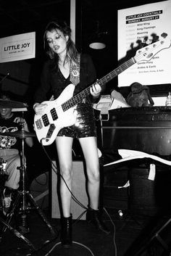
<instances>
[{"instance_id":1,"label":"woman in dark top and sequined shorts playing the bass","mask_svg":"<svg viewBox=\"0 0 171 256\"><path fill-rule=\"evenodd\" d=\"M49 22L44 32L43 42L49 59L43 66L41 86L35 94L36 103L33 105L33 109L36 115L42 115L43 112L46 112L48 104L44 104L43 101L51 99L51 96L53 99L58 99L63 92L64 97L67 95L67 99L70 99L72 93L63 91L70 83L74 86L73 95L94 83L85 99L80 101L73 110L76 122L62 128L55 139L60 174L63 177L60 182L62 200L61 241L64 247L70 247L72 244L70 191L72 190L73 139L79 140L86 162L89 196L86 219L89 223L93 223L99 231L109 234L99 212L99 156L96 143L96 122L92 107L93 103L99 101L103 88L96 83L96 71L91 57L88 54L79 54L75 48L71 39L71 29L66 22L57 20ZM66 181L67 186L64 181Z\"/></svg>"}]
</instances>

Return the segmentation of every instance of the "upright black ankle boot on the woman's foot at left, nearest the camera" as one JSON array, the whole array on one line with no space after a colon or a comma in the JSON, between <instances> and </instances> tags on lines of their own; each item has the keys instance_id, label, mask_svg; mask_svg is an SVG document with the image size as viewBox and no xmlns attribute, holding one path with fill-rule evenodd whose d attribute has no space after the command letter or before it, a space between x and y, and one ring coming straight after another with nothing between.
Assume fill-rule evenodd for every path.
<instances>
[{"instance_id":1,"label":"upright black ankle boot on the woman's foot at left, nearest the camera","mask_svg":"<svg viewBox=\"0 0 171 256\"><path fill-rule=\"evenodd\" d=\"M62 218L61 242L64 247L70 247L72 244L72 215Z\"/></svg>"}]
</instances>

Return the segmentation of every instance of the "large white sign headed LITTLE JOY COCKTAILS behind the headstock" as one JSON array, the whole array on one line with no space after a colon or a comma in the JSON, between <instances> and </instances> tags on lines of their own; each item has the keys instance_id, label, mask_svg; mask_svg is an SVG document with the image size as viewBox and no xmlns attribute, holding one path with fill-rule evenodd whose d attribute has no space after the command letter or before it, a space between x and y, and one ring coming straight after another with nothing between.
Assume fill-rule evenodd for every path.
<instances>
[{"instance_id":1,"label":"large white sign headed LITTLE JOY COCKTAILS behind the headstock","mask_svg":"<svg viewBox=\"0 0 171 256\"><path fill-rule=\"evenodd\" d=\"M162 41L162 34L171 38L171 0L118 10L118 60L124 60L136 49ZM165 40L165 39L164 39ZM157 52L149 61L135 62L118 75L118 86L171 83L171 46Z\"/></svg>"}]
</instances>

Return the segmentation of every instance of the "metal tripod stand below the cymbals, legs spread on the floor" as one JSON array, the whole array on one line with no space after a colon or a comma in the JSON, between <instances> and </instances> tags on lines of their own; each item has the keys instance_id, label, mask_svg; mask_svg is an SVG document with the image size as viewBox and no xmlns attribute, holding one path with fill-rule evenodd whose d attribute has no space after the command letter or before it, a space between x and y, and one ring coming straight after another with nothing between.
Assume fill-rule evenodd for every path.
<instances>
[{"instance_id":1,"label":"metal tripod stand below the cymbals, legs spread on the floor","mask_svg":"<svg viewBox=\"0 0 171 256\"><path fill-rule=\"evenodd\" d=\"M46 216L43 215L43 212L41 211L41 209L38 207L38 204L33 199L32 194L30 194L30 192L26 191L26 189L25 189L26 167L25 167L25 152L24 152L25 141L24 140L25 140L26 136L24 134L24 130L23 130L23 133L21 134L21 136L19 136L19 138L22 139L22 157L21 157L21 167L20 167L20 173L21 173L21 177L22 177L22 184L21 184L22 189L20 191L17 191L17 197L14 200L14 203L12 205L12 210L7 215L7 219L3 220L0 218L0 222L4 225L4 228L2 228L2 231L1 231L0 241L2 239L2 234L8 228L9 231L12 231L12 233L15 236L24 240L28 244L28 246L31 247L31 249L33 249L33 251L36 251L36 248L34 247L34 245L28 239L26 239L25 236L23 236L23 234L27 234L29 232L27 214L28 214L28 212L30 212L30 210L36 209L38 211L38 214L41 215L41 218L46 223L46 225L50 229L51 234L53 236L56 236L57 232L51 226L51 224L49 223L49 220L47 220ZM28 199L27 202L26 202L26 197ZM29 204L29 201L30 201L30 204ZM31 205L33 205L33 207L31 207ZM12 217L14 215L14 212L17 209L19 209L18 213L21 214L21 219L22 219L21 226L20 226L21 231L17 231L17 229L12 228L12 226L9 225L9 223L11 222Z\"/></svg>"}]
</instances>

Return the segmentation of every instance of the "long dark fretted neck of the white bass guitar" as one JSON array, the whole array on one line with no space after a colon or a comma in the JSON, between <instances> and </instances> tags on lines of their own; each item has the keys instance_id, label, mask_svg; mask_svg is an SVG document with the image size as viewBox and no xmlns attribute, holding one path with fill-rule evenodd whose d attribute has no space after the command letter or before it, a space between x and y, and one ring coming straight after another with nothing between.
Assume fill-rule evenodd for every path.
<instances>
[{"instance_id":1,"label":"long dark fretted neck of the white bass guitar","mask_svg":"<svg viewBox=\"0 0 171 256\"><path fill-rule=\"evenodd\" d=\"M99 83L100 86L103 86L105 83L107 83L110 80L112 80L114 77L116 77L117 75L122 73L124 70L127 70L128 67L130 67L133 64L135 64L135 62L136 61L135 61L134 57L131 58L131 59L128 59L127 62L124 62L122 65L117 67L115 70L112 70L107 75L104 75L104 77L99 79L98 82L96 82L96 83ZM80 91L80 93L76 94L71 99L68 99L67 102L64 102L62 104L62 110L64 110L64 111L69 110L70 107L74 107L79 102L82 102L82 100L85 99L86 96L88 96L90 94L90 88L93 85L95 85L96 83L91 84L91 86L88 86L86 89L84 89L83 91Z\"/></svg>"}]
</instances>

